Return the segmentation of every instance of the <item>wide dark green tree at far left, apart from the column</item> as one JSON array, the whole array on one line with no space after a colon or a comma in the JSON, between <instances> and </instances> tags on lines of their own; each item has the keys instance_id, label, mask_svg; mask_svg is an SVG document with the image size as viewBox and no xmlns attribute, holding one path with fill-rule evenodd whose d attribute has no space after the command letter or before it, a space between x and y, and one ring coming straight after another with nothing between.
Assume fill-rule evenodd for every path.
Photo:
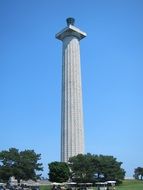
<instances>
[{"instance_id":1,"label":"wide dark green tree at far left, apart from the column","mask_svg":"<svg viewBox=\"0 0 143 190\"><path fill-rule=\"evenodd\" d=\"M36 154L34 150L19 151L16 148L10 148L8 151L0 152L0 178L7 181L10 176L20 179L36 180L40 177L37 171L42 171L42 164L38 163L41 155Z\"/></svg>"}]
</instances>

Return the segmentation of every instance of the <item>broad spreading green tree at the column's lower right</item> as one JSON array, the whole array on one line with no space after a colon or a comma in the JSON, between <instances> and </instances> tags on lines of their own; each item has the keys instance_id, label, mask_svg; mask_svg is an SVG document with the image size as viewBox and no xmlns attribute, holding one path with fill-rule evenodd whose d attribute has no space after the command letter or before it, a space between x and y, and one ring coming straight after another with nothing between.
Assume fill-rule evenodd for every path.
<instances>
[{"instance_id":1,"label":"broad spreading green tree at the column's lower right","mask_svg":"<svg viewBox=\"0 0 143 190\"><path fill-rule=\"evenodd\" d=\"M113 156L77 155L69 159L72 179L76 182L95 182L124 179L125 171Z\"/></svg>"}]
</instances>

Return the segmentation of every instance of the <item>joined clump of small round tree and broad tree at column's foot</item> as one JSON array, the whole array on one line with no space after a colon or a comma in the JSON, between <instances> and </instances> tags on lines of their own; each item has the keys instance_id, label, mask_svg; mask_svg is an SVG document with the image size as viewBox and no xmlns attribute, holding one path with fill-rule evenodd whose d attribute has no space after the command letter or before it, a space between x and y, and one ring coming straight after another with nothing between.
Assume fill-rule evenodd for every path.
<instances>
[{"instance_id":1,"label":"joined clump of small round tree and broad tree at column's foot","mask_svg":"<svg viewBox=\"0 0 143 190\"><path fill-rule=\"evenodd\" d=\"M68 163L52 162L49 164L50 181L64 182L70 179L78 183L94 183L115 180L121 182L125 171L113 156L79 154L69 159Z\"/></svg>"}]
</instances>

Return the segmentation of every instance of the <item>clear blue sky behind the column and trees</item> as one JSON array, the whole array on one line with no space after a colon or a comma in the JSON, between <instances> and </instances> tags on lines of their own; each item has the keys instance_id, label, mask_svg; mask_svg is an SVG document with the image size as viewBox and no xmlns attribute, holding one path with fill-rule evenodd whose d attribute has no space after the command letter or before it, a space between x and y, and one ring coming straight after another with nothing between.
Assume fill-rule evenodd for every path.
<instances>
[{"instance_id":1,"label":"clear blue sky behind the column and trees","mask_svg":"<svg viewBox=\"0 0 143 190\"><path fill-rule=\"evenodd\" d=\"M0 151L60 160L62 43L74 17L81 41L86 153L113 155L127 176L143 166L143 1L0 0Z\"/></svg>"}]
</instances>

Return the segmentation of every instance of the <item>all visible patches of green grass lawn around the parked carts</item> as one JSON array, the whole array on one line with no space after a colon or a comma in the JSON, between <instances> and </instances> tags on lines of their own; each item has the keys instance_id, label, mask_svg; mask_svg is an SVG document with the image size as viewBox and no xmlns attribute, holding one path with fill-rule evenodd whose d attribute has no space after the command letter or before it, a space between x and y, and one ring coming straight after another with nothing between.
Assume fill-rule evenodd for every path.
<instances>
[{"instance_id":1,"label":"all visible patches of green grass lawn around the parked carts","mask_svg":"<svg viewBox=\"0 0 143 190\"><path fill-rule=\"evenodd\" d=\"M50 190L48 186L41 186L40 190ZM95 188L93 188L95 190ZM120 186L116 186L116 190L143 190L143 181L124 180Z\"/></svg>"}]
</instances>

